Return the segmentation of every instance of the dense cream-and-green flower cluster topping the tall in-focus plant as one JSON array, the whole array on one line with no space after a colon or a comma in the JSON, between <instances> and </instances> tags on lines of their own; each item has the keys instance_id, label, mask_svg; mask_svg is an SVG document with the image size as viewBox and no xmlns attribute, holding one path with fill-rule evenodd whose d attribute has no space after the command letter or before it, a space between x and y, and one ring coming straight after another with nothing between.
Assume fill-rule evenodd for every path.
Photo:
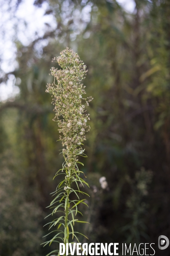
<instances>
[{"instance_id":1,"label":"dense cream-and-green flower cluster topping the tall in-focus plant","mask_svg":"<svg viewBox=\"0 0 170 256\"><path fill-rule=\"evenodd\" d=\"M47 85L46 92L53 96L52 103L56 112L54 121L58 122L59 133L62 134L60 140L64 147L62 152L65 166L67 169L74 170L78 161L77 156L83 152L81 144L85 140L85 132L90 129L87 125L90 118L89 114L85 113L85 107L89 105L92 98L82 98L85 94L85 86L81 84L87 72L86 65L77 53L68 48L52 61L58 62L61 69L51 68L54 83Z\"/></svg>"}]
</instances>

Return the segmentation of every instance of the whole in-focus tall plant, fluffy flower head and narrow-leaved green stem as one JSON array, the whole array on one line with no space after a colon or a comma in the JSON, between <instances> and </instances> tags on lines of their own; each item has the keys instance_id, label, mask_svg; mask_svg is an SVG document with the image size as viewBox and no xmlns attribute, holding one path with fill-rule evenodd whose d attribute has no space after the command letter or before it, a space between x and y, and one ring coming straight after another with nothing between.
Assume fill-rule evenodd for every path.
<instances>
[{"instance_id":1,"label":"whole in-focus tall plant, fluffy flower head and narrow-leaved green stem","mask_svg":"<svg viewBox=\"0 0 170 256\"><path fill-rule=\"evenodd\" d=\"M82 186L88 185L88 183L80 177L83 172L79 170L78 165L83 165L83 163L79 162L78 158L79 156L86 157L82 143L85 140L85 132L90 130L90 126L87 125L87 121L90 118L85 108L92 100L91 97L83 98L85 86L81 84L81 80L85 79L87 70L86 65L80 60L77 53L72 49L66 48L60 53L59 57L54 58L52 61L58 62L61 69L51 68L54 82L47 85L46 92L51 93L53 97L52 104L55 106L54 111L56 112L53 120L59 126L59 133L61 133L59 140L62 141L62 154L65 160L62 164L62 169L54 177L64 174L65 178L58 184L54 192L54 200L50 204L53 209L50 215L62 212L59 218L55 218L54 221L49 223L49 229L55 227L56 230L52 232L57 234L50 241L45 242L45 245L50 245L56 239L58 242L66 244L70 237L71 239L75 237L79 241L77 238L77 233L79 232L74 231L74 223L86 223L85 221L79 221L76 217L77 212L79 212L77 206L79 204L87 205L85 199L80 200L79 195L88 195L79 188L80 183ZM82 100L84 104L82 104ZM73 189L73 183L76 183L77 189ZM75 200L70 199L71 193L76 195ZM83 234L81 235L84 236ZM51 253L59 255L59 249Z\"/></svg>"}]
</instances>

